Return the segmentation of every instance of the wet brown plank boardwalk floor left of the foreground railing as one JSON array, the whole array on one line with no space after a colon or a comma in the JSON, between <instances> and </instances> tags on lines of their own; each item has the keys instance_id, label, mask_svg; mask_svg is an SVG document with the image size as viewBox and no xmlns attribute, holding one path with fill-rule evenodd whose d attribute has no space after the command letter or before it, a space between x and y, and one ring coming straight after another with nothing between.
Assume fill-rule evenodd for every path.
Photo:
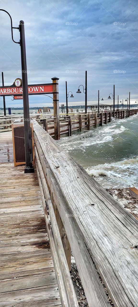
<instances>
[{"instance_id":1,"label":"wet brown plank boardwalk floor left of the foreground railing","mask_svg":"<svg viewBox=\"0 0 138 307\"><path fill-rule=\"evenodd\" d=\"M0 307L61 307L37 173L14 167L12 134L0 134Z\"/></svg>"}]
</instances>

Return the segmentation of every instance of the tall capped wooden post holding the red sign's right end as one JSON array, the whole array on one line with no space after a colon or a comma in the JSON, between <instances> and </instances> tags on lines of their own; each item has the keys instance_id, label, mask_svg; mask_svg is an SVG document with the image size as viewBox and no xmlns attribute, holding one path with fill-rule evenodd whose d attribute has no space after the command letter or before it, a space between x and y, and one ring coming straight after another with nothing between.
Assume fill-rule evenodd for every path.
<instances>
[{"instance_id":1,"label":"tall capped wooden post holding the red sign's right end","mask_svg":"<svg viewBox=\"0 0 138 307\"><path fill-rule=\"evenodd\" d=\"M56 122L54 122L54 138L55 140L60 140L60 126L59 126L59 90L58 90L58 80L59 78L51 78L53 80L53 108L54 117L56 117Z\"/></svg>"}]
</instances>

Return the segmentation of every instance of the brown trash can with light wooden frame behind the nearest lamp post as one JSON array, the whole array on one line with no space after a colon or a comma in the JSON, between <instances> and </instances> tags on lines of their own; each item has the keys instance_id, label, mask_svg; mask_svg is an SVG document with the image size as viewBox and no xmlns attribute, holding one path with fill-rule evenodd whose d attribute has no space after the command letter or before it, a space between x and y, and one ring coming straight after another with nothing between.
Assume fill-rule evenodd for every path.
<instances>
[{"instance_id":1,"label":"brown trash can with light wooden frame behind the nearest lamp post","mask_svg":"<svg viewBox=\"0 0 138 307\"><path fill-rule=\"evenodd\" d=\"M34 159L34 138L33 138L33 124L30 124L31 129L31 143L32 143L32 163L35 164ZM12 124L13 136L13 157L14 166L25 164L25 132L24 123L17 122Z\"/></svg>"}]
</instances>

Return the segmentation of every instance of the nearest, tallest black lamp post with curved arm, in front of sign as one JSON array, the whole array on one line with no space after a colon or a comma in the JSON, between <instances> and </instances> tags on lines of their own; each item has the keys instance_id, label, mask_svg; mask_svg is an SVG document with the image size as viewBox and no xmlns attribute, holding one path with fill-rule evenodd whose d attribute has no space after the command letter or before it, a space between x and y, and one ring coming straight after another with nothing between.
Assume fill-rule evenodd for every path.
<instances>
[{"instance_id":1,"label":"nearest, tallest black lamp post with curved arm, in front of sign","mask_svg":"<svg viewBox=\"0 0 138 307\"><path fill-rule=\"evenodd\" d=\"M0 9L0 11L10 14L6 10ZM23 107L24 107L24 130L25 130L25 173L34 173L34 167L32 165L32 145L31 145L31 131L30 131L30 115L29 115L29 96L28 96L28 80L27 80L27 65L26 65L26 50L25 50L25 29L24 21L20 21L18 28L13 27L12 18L11 21L11 34L13 40L13 29L18 29L20 32L20 41L14 41L21 46L21 70L22 70L22 90L23 90Z\"/></svg>"}]
</instances>

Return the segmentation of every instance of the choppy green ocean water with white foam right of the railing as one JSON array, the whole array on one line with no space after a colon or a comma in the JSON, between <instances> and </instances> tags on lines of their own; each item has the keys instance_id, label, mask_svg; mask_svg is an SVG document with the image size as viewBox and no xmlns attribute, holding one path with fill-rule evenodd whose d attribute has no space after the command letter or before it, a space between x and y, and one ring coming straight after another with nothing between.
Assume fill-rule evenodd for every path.
<instances>
[{"instance_id":1,"label":"choppy green ocean water with white foam right of the railing","mask_svg":"<svg viewBox=\"0 0 138 307\"><path fill-rule=\"evenodd\" d=\"M138 188L138 115L93 130L62 145L104 188Z\"/></svg>"}]
</instances>

